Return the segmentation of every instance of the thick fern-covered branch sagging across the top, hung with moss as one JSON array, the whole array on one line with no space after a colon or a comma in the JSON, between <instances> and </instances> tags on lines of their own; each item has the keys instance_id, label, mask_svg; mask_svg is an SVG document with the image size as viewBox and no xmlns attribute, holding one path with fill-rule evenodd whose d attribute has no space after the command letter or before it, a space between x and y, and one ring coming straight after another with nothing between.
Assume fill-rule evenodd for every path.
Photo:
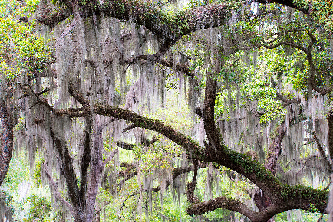
<instances>
[{"instance_id":1,"label":"thick fern-covered branch sagging across the top, hung with moss","mask_svg":"<svg viewBox=\"0 0 333 222\"><path fill-rule=\"evenodd\" d=\"M75 4L70 0L65 0L64 3L68 6ZM136 21L138 25L145 26L158 38L174 44L181 36L197 29L208 29L226 24L232 15L232 8L238 11L241 5L237 5L237 2L230 3L230 5L226 3L207 4L173 17L166 15L158 5L145 4L136 0L108 0L103 5L99 5L98 2L92 2L85 6L80 5L78 8L79 16L82 18L92 15L108 15L126 21ZM43 13L37 21L51 27L71 15L71 12L67 13L67 11L58 14L54 13L52 14L53 16L47 16L45 11ZM174 21L182 21L184 25L179 26Z\"/></svg>"}]
</instances>

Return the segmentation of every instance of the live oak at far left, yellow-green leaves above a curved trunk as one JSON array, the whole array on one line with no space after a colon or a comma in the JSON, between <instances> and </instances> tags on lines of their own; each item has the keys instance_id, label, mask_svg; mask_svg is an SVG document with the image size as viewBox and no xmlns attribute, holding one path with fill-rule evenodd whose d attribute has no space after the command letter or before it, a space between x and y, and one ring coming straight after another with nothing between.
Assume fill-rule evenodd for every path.
<instances>
[{"instance_id":1,"label":"live oak at far left, yellow-green leaves above a curved trunk","mask_svg":"<svg viewBox=\"0 0 333 222\"><path fill-rule=\"evenodd\" d=\"M34 24L28 20L37 6L36 1L22 4L1 2L0 184L9 167L13 152L13 127L18 123L18 101L15 94L18 78L44 70L46 60L49 59L44 50L43 38L38 37Z\"/></svg>"}]
</instances>

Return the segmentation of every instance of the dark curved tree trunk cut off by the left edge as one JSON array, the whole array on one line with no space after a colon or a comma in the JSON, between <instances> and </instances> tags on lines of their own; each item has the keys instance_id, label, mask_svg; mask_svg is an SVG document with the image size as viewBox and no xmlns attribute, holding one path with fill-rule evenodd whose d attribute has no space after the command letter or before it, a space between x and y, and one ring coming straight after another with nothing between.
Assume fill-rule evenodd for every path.
<instances>
[{"instance_id":1,"label":"dark curved tree trunk cut off by the left edge","mask_svg":"<svg viewBox=\"0 0 333 222\"><path fill-rule=\"evenodd\" d=\"M0 99L0 119L2 124L1 146L0 146L0 185L4 180L10 159L13 153L13 123L10 119L10 109L6 102Z\"/></svg>"}]
</instances>

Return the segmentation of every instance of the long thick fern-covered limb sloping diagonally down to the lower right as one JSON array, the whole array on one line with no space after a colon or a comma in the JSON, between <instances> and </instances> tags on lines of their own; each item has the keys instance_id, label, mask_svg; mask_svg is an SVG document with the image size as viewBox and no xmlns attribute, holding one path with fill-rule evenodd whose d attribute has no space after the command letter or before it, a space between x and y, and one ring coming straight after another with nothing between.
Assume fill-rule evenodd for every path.
<instances>
[{"instance_id":1,"label":"long thick fern-covered limb sloping diagonally down to the lower right","mask_svg":"<svg viewBox=\"0 0 333 222\"><path fill-rule=\"evenodd\" d=\"M87 100L82 102L89 104ZM266 218L271 216L271 214L283 212L286 209L308 210L308 203L315 204L320 212L324 212L326 208L327 202L325 202L325 199L327 200L327 192L307 187L300 188L282 185L278 182L276 177L272 176L263 168L263 165L252 160L245 154L227 148L224 148L224 152L216 152L211 146L202 148L186 135L179 133L171 126L159 120L143 117L133 111L111 107L107 103L104 103L104 105L95 103L93 111L96 114L131 121L132 123L138 124L139 127L159 132L182 146L187 151L188 158L204 162L215 162L244 175L263 190L272 200L272 205L267 208L269 212L266 212L266 210L258 212L260 213L258 215L264 214L264 216L258 218ZM289 190L293 191L290 193ZM282 194L285 198L281 198ZM318 198L314 198L314 196L319 197L322 201L316 201ZM283 207L276 208L276 206Z\"/></svg>"}]
</instances>

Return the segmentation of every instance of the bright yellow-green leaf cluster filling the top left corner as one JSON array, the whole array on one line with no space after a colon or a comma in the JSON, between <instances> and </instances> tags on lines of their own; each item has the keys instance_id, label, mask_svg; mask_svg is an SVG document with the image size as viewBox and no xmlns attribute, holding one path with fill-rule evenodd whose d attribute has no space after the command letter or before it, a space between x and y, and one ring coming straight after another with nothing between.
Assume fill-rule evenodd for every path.
<instances>
[{"instance_id":1,"label":"bright yellow-green leaf cluster filling the top left corner","mask_svg":"<svg viewBox=\"0 0 333 222\"><path fill-rule=\"evenodd\" d=\"M33 76L44 70L51 59L44 38L35 31L34 20L28 20L38 3L29 0L21 6L18 1L0 1L0 72L7 79ZM19 22L20 18L26 20Z\"/></svg>"}]
</instances>

